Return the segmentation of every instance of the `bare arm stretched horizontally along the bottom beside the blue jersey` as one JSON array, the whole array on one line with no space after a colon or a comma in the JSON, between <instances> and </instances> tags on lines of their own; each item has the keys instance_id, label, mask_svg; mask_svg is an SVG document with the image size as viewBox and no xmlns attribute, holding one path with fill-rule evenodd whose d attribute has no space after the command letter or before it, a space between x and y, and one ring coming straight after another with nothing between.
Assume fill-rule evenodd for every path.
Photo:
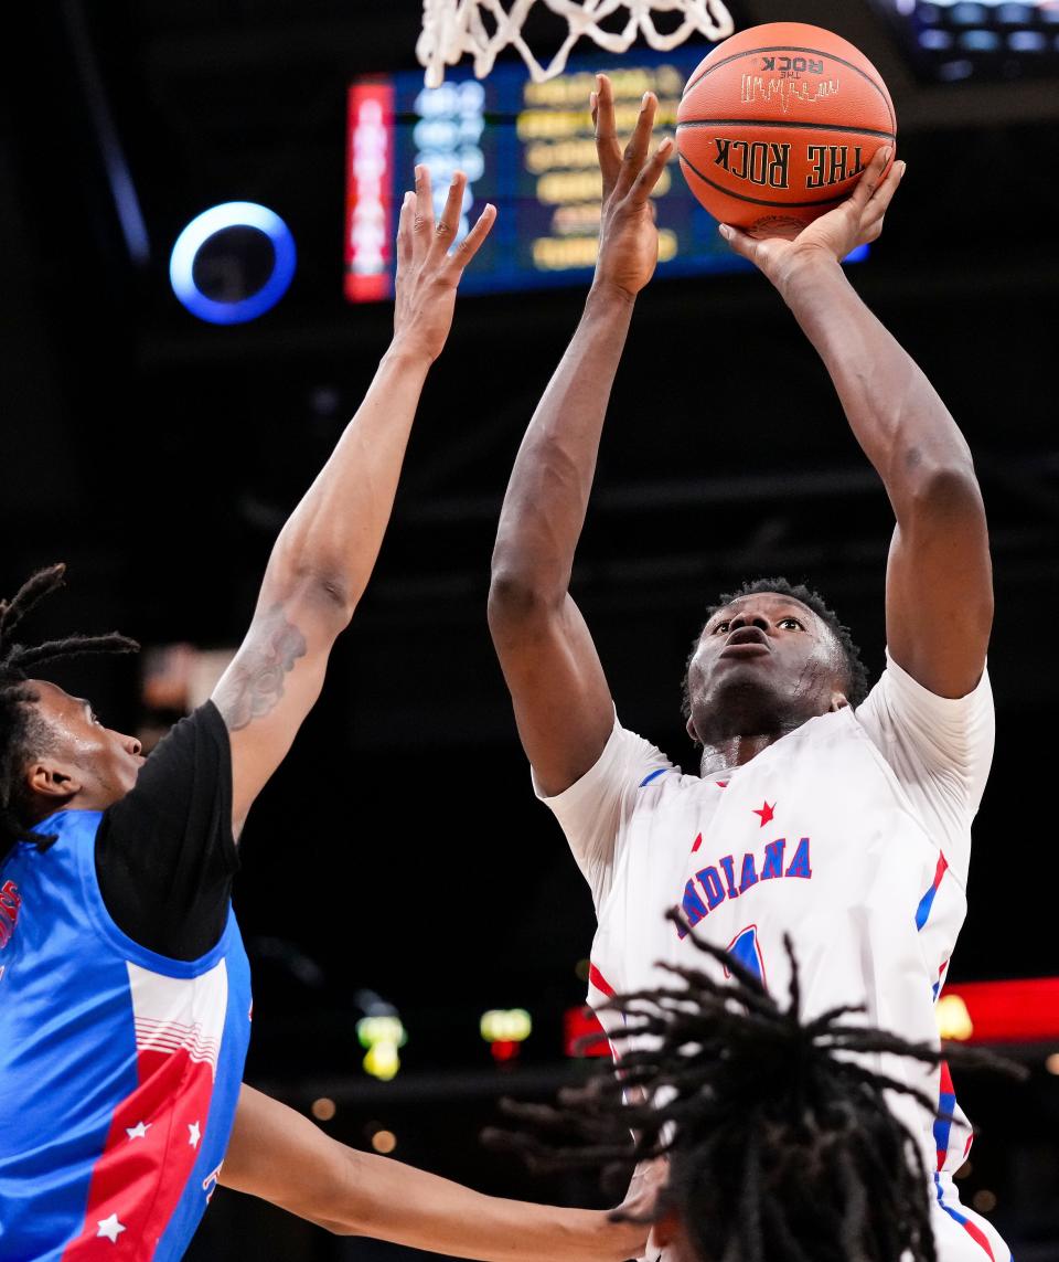
<instances>
[{"instance_id":1,"label":"bare arm stretched horizontally along the bottom beside the blue jersey","mask_svg":"<svg viewBox=\"0 0 1059 1262\"><path fill-rule=\"evenodd\" d=\"M246 1085L221 1182L339 1235L483 1262L623 1262L640 1252L647 1235L645 1227L610 1223L605 1213L483 1196L358 1152Z\"/></svg>"}]
</instances>

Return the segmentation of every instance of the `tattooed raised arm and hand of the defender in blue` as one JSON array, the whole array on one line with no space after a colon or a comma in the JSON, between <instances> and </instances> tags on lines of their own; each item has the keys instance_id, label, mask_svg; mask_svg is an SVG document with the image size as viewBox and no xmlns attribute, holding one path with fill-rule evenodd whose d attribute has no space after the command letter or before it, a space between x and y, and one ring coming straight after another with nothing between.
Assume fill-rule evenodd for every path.
<instances>
[{"instance_id":1,"label":"tattooed raised arm and hand of the defender in blue","mask_svg":"<svg viewBox=\"0 0 1059 1262\"><path fill-rule=\"evenodd\" d=\"M453 322L456 286L495 218L487 206L450 255L466 179L435 227L430 175L416 168L397 232L393 341L330 459L280 531L250 630L213 694L231 732L238 834L324 681L328 656L374 567L420 392Z\"/></svg>"}]
</instances>

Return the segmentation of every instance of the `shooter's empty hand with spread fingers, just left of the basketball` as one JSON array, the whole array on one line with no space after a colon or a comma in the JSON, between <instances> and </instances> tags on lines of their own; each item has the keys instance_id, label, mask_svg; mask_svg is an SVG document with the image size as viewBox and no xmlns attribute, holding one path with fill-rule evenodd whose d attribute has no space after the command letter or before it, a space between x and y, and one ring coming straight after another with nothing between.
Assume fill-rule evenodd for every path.
<instances>
[{"instance_id":1,"label":"shooter's empty hand with spread fingers, just left of the basketball","mask_svg":"<svg viewBox=\"0 0 1059 1262\"><path fill-rule=\"evenodd\" d=\"M658 183L673 141L666 139L648 158L658 98L645 92L632 139L624 153L614 125L614 91L605 74L593 92L596 155L603 172L603 216L599 228L596 284L635 295L654 275L658 228L651 191Z\"/></svg>"}]
</instances>

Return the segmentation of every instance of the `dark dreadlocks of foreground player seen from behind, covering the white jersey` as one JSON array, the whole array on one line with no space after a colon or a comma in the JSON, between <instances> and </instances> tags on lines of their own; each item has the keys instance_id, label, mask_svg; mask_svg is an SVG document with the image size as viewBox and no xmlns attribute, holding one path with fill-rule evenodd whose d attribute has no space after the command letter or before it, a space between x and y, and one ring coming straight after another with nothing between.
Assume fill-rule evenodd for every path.
<instances>
[{"instance_id":1,"label":"dark dreadlocks of foreground player seen from behind, covering the white jersey","mask_svg":"<svg viewBox=\"0 0 1059 1262\"><path fill-rule=\"evenodd\" d=\"M683 926L678 911L669 919ZM538 1169L625 1179L634 1164L667 1156L648 1220L676 1213L702 1262L935 1262L919 1145L884 1092L911 1095L932 1116L935 1104L848 1054L935 1065L942 1053L843 1020L856 1007L803 1023L789 939L785 1007L738 959L692 940L731 981L666 965L682 986L616 996L606 1010L624 1022L611 1035L619 1063L557 1108L508 1103L532 1133L489 1132L490 1146ZM1004 1064L966 1049L947 1055Z\"/></svg>"}]
</instances>

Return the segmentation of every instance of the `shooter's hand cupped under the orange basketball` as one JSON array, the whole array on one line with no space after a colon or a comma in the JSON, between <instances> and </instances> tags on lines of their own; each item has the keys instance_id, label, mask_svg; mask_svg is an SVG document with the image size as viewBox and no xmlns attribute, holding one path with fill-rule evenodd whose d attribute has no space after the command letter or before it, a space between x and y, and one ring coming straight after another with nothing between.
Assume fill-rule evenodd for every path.
<instances>
[{"instance_id":1,"label":"shooter's hand cupped under the orange basketball","mask_svg":"<svg viewBox=\"0 0 1059 1262\"><path fill-rule=\"evenodd\" d=\"M859 245L879 239L882 218L905 173L905 164L899 162L882 174L890 156L889 146L879 149L846 201L813 220L793 240L755 239L727 223L721 225L721 235L736 254L749 259L785 293L802 262L819 257L841 262Z\"/></svg>"}]
</instances>

